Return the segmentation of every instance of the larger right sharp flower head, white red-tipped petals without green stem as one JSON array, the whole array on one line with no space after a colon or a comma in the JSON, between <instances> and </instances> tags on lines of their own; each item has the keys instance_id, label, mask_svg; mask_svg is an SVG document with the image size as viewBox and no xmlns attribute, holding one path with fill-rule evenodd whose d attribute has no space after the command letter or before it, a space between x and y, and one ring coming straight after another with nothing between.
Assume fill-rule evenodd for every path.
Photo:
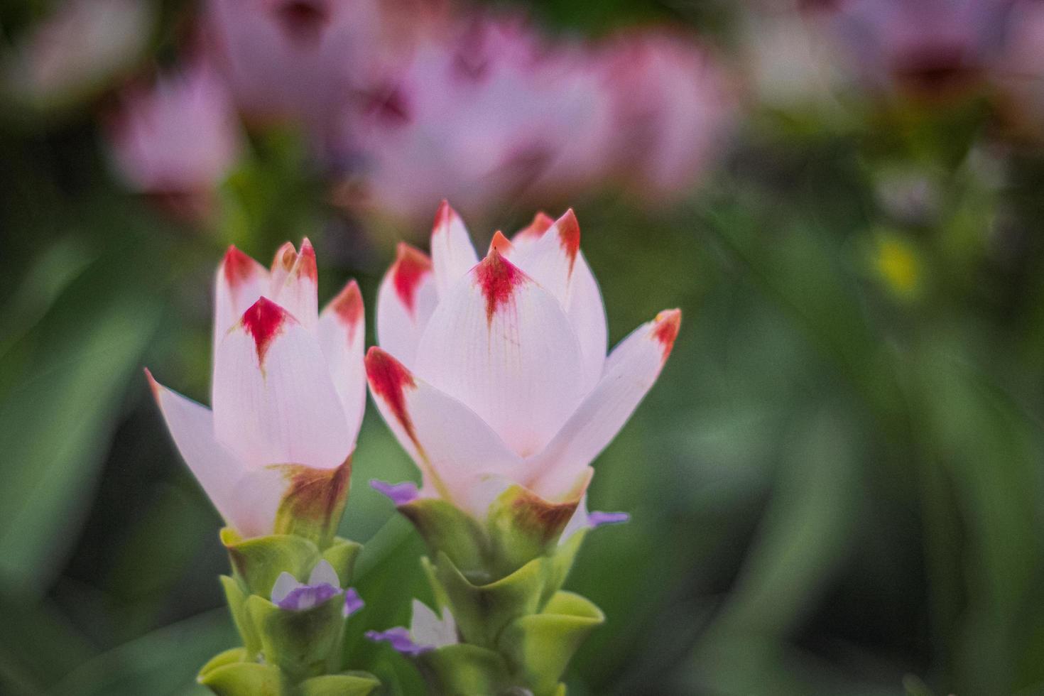
<instances>
[{"instance_id":1,"label":"larger right sharp flower head, white red-tipped petals without green stem","mask_svg":"<svg viewBox=\"0 0 1044 696\"><path fill-rule=\"evenodd\" d=\"M576 508L589 463L656 382L678 334L661 312L607 357L606 313L572 211L538 214L481 261L446 202L431 258L405 244L377 298L374 400L423 476L474 518L518 484ZM413 496L392 489L398 504ZM560 510L561 513L561 510Z\"/></svg>"}]
</instances>

